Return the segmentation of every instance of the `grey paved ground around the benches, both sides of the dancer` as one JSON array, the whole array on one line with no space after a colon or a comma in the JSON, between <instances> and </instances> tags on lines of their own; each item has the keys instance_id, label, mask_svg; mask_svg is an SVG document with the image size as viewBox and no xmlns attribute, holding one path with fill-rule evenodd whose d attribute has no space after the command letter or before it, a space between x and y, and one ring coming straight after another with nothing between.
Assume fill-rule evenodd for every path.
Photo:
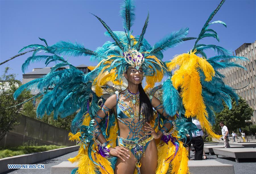
<instances>
[{"instance_id":1,"label":"grey paved ground around the benches, both sides of the dancer","mask_svg":"<svg viewBox=\"0 0 256 174\"><path fill-rule=\"evenodd\" d=\"M51 172L51 166L57 165L63 161L67 161L70 157L75 157L78 151L71 152L69 154L59 156L57 158L53 158L50 160L45 160L38 164L44 164L44 169L18 169L11 171L9 173L26 173L26 174L49 174ZM240 163L236 163L234 158L228 158L219 156L220 158L216 158L215 155L210 156L207 155L207 160L216 160L221 163L232 164L234 165L234 170L236 174L246 174L246 173L255 173L256 171L256 161L250 161L248 159L241 160ZM194 152L191 151L191 159L194 159ZM214 171L212 171L214 173Z\"/></svg>"}]
</instances>

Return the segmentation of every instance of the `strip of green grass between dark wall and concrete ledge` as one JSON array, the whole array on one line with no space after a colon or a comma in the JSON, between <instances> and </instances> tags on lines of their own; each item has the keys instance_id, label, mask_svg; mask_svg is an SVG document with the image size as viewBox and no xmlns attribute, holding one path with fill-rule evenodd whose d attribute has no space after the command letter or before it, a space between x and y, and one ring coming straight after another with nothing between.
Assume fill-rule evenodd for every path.
<instances>
[{"instance_id":1,"label":"strip of green grass between dark wall and concrete ledge","mask_svg":"<svg viewBox=\"0 0 256 174\"><path fill-rule=\"evenodd\" d=\"M56 146L56 145L44 145L44 146L18 146L0 149L0 158L11 157L16 155L31 154L35 152L44 152L47 150L53 150L63 148L67 146Z\"/></svg>"}]
</instances>

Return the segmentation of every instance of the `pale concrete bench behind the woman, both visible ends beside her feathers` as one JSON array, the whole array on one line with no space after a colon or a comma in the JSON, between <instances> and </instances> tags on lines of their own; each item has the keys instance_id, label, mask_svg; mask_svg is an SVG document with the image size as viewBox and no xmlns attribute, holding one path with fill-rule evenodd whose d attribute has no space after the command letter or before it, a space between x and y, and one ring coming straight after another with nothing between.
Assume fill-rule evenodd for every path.
<instances>
[{"instance_id":1,"label":"pale concrete bench behind the woman, both visible ends beside her feathers","mask_svg":"<svg viewBox=\"0 0 256 174\"><path fill-rule=\"evenodd\" d=\"M191 174L196 173L228 173L234 174L234 166L223 164L215 160L189 161L189 171ZM51 167L51 174L70 174L77 167L77 163L64 161Z\"/></svg>"}]
</instances>

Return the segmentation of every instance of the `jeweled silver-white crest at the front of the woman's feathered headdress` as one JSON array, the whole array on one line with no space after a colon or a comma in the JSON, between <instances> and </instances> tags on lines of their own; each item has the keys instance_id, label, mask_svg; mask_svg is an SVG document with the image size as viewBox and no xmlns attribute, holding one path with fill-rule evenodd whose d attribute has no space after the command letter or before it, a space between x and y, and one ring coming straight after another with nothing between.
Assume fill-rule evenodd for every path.
<instances>
[{"instance_id":1,"label":"jeweled silver-white crest at the front of the woman's feathered headdress","mask_svg":"<svg viewBox=\"0 0 256 174\"><path fill-rule=\"evenodd\" d=\"M144 55L135 49L130 49L129 51L125 51L123 55L124 55L125 61L129 63L133 68L136 68L137 70L140 69L141 65L145 61Z\"/></svg>"}]
</instances>

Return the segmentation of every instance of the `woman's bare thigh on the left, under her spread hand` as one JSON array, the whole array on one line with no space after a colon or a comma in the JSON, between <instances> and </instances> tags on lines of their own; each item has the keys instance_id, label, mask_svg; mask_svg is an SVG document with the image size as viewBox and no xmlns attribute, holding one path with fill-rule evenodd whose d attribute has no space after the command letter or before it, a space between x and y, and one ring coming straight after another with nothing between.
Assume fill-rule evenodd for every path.
<instances>
[{"instance_id":1,"label":"woman's bare thigh on the left, under her spread hand","mask_svg":"<svg viewBox=\"0 0 256 174\"><path fill-rule=\"evenodd\" d=\"M117 161L115 163L115 174L133 174L135 171L135 164L136 161L134 159L133 153L131 153L131 158L125 158L125 161L121 160L120 158L117 158Z\"/></svg>"}]
</instances>

